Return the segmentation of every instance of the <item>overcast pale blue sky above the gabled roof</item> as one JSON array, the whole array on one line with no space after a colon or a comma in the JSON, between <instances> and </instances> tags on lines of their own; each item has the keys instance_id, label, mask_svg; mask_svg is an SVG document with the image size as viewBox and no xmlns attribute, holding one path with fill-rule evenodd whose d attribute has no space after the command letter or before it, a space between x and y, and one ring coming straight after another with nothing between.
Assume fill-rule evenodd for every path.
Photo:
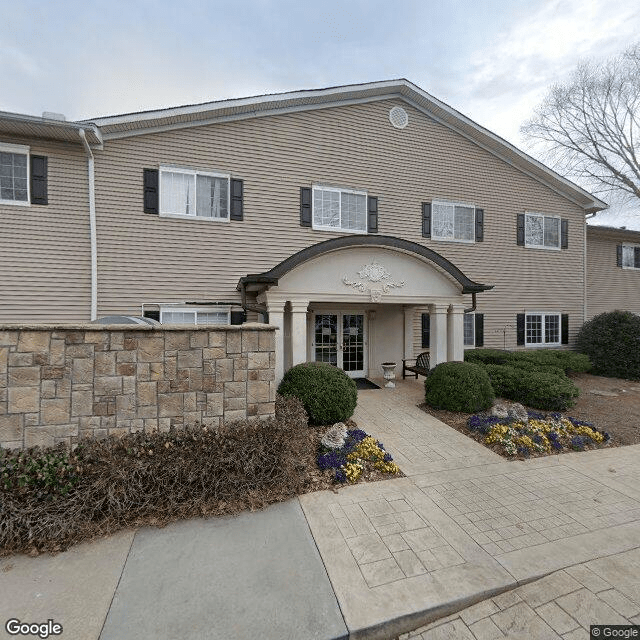
<instances>
[{"instance_id":1,"label":"overcast pale blue sky above the gabled roof","mask_svg":"<svg viewBox=\"0 0 640 640\"><path fill-rule=\"evenodd\" d=\"M525 148L583 58L640 40L638 0L0 0L0 110L90 118L408 78Z\"/></svg>"}]
</instances>

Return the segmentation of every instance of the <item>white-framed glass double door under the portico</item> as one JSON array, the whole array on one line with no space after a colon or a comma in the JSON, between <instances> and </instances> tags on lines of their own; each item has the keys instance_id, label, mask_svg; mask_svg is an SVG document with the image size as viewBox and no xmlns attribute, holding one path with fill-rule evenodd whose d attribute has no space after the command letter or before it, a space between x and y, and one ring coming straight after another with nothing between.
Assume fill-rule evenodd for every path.
<instances>
[{"instance_id":1,"label":"white-framed glass double door under the portico","mask_svg":"<svg viewBox=\"0 0 640 640\"><path fill-rule=\"evenodd\" d=\"M365 317L362 313L316 313L313 318L316 362L328 362L352 378L366 369Z\"/></svg>"}]
</instances>

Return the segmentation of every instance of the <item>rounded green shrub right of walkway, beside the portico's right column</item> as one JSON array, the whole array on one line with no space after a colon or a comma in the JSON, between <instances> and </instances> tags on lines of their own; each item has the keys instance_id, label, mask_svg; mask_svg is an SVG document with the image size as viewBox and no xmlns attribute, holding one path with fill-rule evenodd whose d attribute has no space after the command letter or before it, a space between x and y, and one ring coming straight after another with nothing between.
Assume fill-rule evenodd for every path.
<instances>
[{"instance_id":1,"label":"rounded green shrub right of walkway, beside the portico's right column","mask_svg":"<svg viewBox=\"0 0 640 640\"><path fill-rule=\"evenodd\" d=\"M488 409L494 398L487 372L471 362L443 362L424 384L425 401L435 409L476 413Z\"/></svg>"}]
</instances>

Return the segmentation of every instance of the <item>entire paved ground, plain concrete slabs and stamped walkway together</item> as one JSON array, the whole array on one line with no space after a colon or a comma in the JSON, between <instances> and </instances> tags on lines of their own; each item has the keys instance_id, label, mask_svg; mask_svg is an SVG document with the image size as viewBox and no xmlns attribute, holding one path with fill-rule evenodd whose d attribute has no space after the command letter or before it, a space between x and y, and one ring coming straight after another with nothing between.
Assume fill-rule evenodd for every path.
<instances>
[{"instance_id":1,"label":"entire paved ground, plain concrete slabs and stamped walkway together","mask_svg":"<svg viewBox=\"0 0 640 640\"><path fill-rule=\"evenodd\" d=\"M589 621L637 622L640 446L508 462L418 409L421 397L415 381L361 391L355 415L407 477L3 558L3 627L482 640L523 637L526 623L529 638L574 640Z\"/></svg>"}]
</instances>

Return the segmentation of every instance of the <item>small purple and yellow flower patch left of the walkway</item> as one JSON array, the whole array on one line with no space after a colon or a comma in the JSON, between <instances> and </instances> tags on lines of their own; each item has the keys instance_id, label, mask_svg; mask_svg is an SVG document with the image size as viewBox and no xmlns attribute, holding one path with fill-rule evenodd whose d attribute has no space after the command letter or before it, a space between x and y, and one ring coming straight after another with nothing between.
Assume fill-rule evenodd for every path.
<instances>
[{"instance_id":1,"label":"small purple and yellow flower patch left of the walkway","mask_svg":"<svg viewBox=\"0 0 640 640\"><path fill-rule=\"evenodd\" d=\"M332 473L333 481L337 483L370 480L376 472L402 473L391 454L384 450L384 445L362 429L348 430L342 447L329 448L321 444L318 467Z\"/></svg>"}]
</instances>

